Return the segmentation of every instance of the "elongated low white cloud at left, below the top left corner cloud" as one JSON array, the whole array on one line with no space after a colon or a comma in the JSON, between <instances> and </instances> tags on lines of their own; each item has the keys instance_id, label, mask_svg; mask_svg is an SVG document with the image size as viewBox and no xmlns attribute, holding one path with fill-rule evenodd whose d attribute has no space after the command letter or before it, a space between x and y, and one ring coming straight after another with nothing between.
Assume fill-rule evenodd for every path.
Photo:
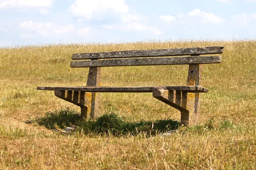
<instances>
[{"instance_id":1,"label":"elongated low white cloud at left, below the top left corner cloud","mask_svg":"<svg viewBox=\"0 0 256 170\"><path fill-rule=\"evenodd\" d=\"M71 24L68 24L67 26L58 26L52 23L33 22L32 20L20 23L19 28L22 28L27 34L35 32L43 37L54 37L57 34L66 34L75 31L75 27ZM24 35L26 35L25 33Z\"/></svg>"}]
</instances>

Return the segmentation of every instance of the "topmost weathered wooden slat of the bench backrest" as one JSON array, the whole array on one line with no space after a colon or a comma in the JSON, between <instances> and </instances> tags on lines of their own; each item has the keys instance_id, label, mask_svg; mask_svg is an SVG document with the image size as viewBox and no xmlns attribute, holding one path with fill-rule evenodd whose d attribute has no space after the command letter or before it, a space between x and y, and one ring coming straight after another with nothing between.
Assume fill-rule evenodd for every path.
<instances>
[{"instance_id":1,"label":"topmost weathered wooden slat of the bench backrest","mask_svg":"<svg viewBox=\"0 0 256 170\"><path fill-rule=\"evenodd\" d=\"M163 57L163 56L183 56L201 54L222 54L223 46L193 47L193 48L167 48L152 50L131 50L131 51L109 51L94 53L73 54L72 59L107 59L126 57Z\"/></svg>"}]
</instances>

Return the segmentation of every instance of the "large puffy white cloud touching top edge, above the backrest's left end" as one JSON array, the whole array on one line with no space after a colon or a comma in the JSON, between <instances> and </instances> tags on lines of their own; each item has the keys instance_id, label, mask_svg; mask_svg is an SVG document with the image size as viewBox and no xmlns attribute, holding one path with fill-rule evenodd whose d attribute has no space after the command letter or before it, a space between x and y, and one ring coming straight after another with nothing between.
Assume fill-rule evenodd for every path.
<instances>
[{"instance_id":1,"label":"large puffy white cloud touching top edge, above the backrest's left end","mask_svg":"<svg viewBox=\"0 0 256 170\"><path fill-rule=\"evenodd\" d=\"M125 0L76 0L70 6L71 12L86 19L98 17L107 11L116 13L127 13L129 6L125 4Z\"/></svg>"}]
</instances>

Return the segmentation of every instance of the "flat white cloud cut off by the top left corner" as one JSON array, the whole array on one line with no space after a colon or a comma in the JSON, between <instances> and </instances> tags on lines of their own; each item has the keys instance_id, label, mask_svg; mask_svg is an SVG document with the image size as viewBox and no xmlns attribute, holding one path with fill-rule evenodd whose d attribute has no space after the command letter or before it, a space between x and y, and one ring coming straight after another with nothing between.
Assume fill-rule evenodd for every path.
<instances>
[{"instance_id":1,"label":"flat white cloud cut off by the top left corner","mask_svg":"<svg viewBox=\"0 0 256 170\"><path fill-rule=\"evenodd\" d=\"M44 8L51 6L52 3L53 0L0 0L0 8Z\"/></svg>"}]
</instances>

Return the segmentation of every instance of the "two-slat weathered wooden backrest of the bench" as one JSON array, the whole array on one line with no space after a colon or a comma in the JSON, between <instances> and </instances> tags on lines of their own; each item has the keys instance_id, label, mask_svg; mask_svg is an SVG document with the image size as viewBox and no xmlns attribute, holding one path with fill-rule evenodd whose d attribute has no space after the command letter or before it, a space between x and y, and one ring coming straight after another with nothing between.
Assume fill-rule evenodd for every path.
<instances>
[{"instance_id":1,"label":"two-slat weathered wooden backrest of the bench","mask_svg":"<svg viewBox=\"0 0 256 170\"><path fill-rule=\"evenodd\" d=\"M110 51L73 54L70 67L113 67L134 65L180 65L220 63L221 56L200 56L202 54L222 54L223 46L168 48L153 50ZM168 56L168 57L167 57ZM183 57L169 57L183 56Z\"/></svg>"}]
</instances>

